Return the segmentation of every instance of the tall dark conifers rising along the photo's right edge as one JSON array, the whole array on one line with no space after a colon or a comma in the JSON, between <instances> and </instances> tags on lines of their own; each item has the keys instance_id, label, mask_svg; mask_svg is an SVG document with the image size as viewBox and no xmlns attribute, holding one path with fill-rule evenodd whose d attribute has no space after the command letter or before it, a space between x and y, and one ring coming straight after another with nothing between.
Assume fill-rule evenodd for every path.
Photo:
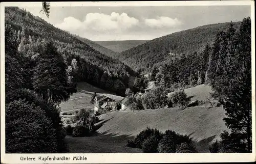
<instances>
[{"instance_id":1,"label":"tall dark conifers rising along the photo's right edge","mask_svg":"<svg viewBox=\"0 0 256 164\"><path fill-rule=\"evenodd\" d=\"M223 120L231 130L231 133L224 131L221 134L222 151L251 152L250 18L243 19L238 32L231 23L219 39L220 44L215 44L211 54L211 62L217 65L217 69L210 73L209 80L215 90L214 98L223 104L226 111L227 117ZM214 70L211 66L209 69Z\"/></svg>"}]
</instances>

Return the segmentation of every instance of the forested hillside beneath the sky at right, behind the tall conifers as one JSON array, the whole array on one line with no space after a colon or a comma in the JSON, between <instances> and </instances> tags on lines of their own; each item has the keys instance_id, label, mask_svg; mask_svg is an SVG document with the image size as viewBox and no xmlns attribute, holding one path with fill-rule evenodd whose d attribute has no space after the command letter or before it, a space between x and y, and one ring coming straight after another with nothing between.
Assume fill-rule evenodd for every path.
<instances>
[{"instance_id":1,"label":"forested hillside beneath the sky at right, behind the tall conifers","mask_svg":"<svg viewBox=\"0 0 256 164\"><path fill-rule=\"evenodd\" d=\"M179 58L182 53L189 55L203 51L206 44L211 44L216 35L226 30L230 23L218 23L199 26L198 28L176 32L156 38L119 54L119 60L135 71L148 72L154 66L168 64ZM239 22L235 22L237 28Z\"/></svg>"}]
</instances>

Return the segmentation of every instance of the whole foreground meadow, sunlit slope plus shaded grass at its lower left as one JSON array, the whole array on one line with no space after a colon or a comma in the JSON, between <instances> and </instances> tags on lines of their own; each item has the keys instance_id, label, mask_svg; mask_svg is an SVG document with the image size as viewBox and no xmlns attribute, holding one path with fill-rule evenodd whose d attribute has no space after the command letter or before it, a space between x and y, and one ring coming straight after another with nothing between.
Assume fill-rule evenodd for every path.
<instances>
[{"instance_id":1,"label":"whole foreground meadow, sunlit slope plus shaded grass at its lower left","mask_svg":"<svg viewBox=\"0 0 256 164\"><path fill-rule=\"evenodd\" d=\"M90 149L95 147L93 152L104 151L108 153L116 145L113 144L109 148L106 147L98 151L97 149L100 148L100 145L108 145L109 143L125 146L127 138L136 136L148 126L158 128L163 132L170 129L187 134L196 141L196 147L200 152L208 152L209 144L215 139L219 139L223 130L228 130L222 120L224 117L225 112L221 107L208 108L202 106L188 107L185 110L164 108L136 112L112 112L99 116L99 119L102 120L96 124L96 126L99 126L97 130L99 135L86 138L68 136L67 141L71 152L87 152L86 145L89 145ZM117 138L113 134L120 135L120 137ZM93 142L94 140L95 142ZM124 147L122 152L124 152Z\"/></svg>"}]
</instances>

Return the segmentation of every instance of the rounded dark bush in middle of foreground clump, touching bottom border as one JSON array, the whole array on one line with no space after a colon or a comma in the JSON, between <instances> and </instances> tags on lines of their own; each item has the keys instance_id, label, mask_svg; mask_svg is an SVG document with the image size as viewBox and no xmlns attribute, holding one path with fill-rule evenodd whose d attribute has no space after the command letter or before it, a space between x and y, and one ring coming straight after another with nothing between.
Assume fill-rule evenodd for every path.
<instances>
[{"instance_id":1,"label":"rounded dark bush in middle of foreground clump, touching bottom border","mask_svg":"<svg viewBox=\"0 0 256 164\"><path fill-rule=\"evenodd\" d=\"M144 153L156 153L159 141L162 139L162 135L151 134L143 143L142 149Z\"/></svg>"}]
</instances>

